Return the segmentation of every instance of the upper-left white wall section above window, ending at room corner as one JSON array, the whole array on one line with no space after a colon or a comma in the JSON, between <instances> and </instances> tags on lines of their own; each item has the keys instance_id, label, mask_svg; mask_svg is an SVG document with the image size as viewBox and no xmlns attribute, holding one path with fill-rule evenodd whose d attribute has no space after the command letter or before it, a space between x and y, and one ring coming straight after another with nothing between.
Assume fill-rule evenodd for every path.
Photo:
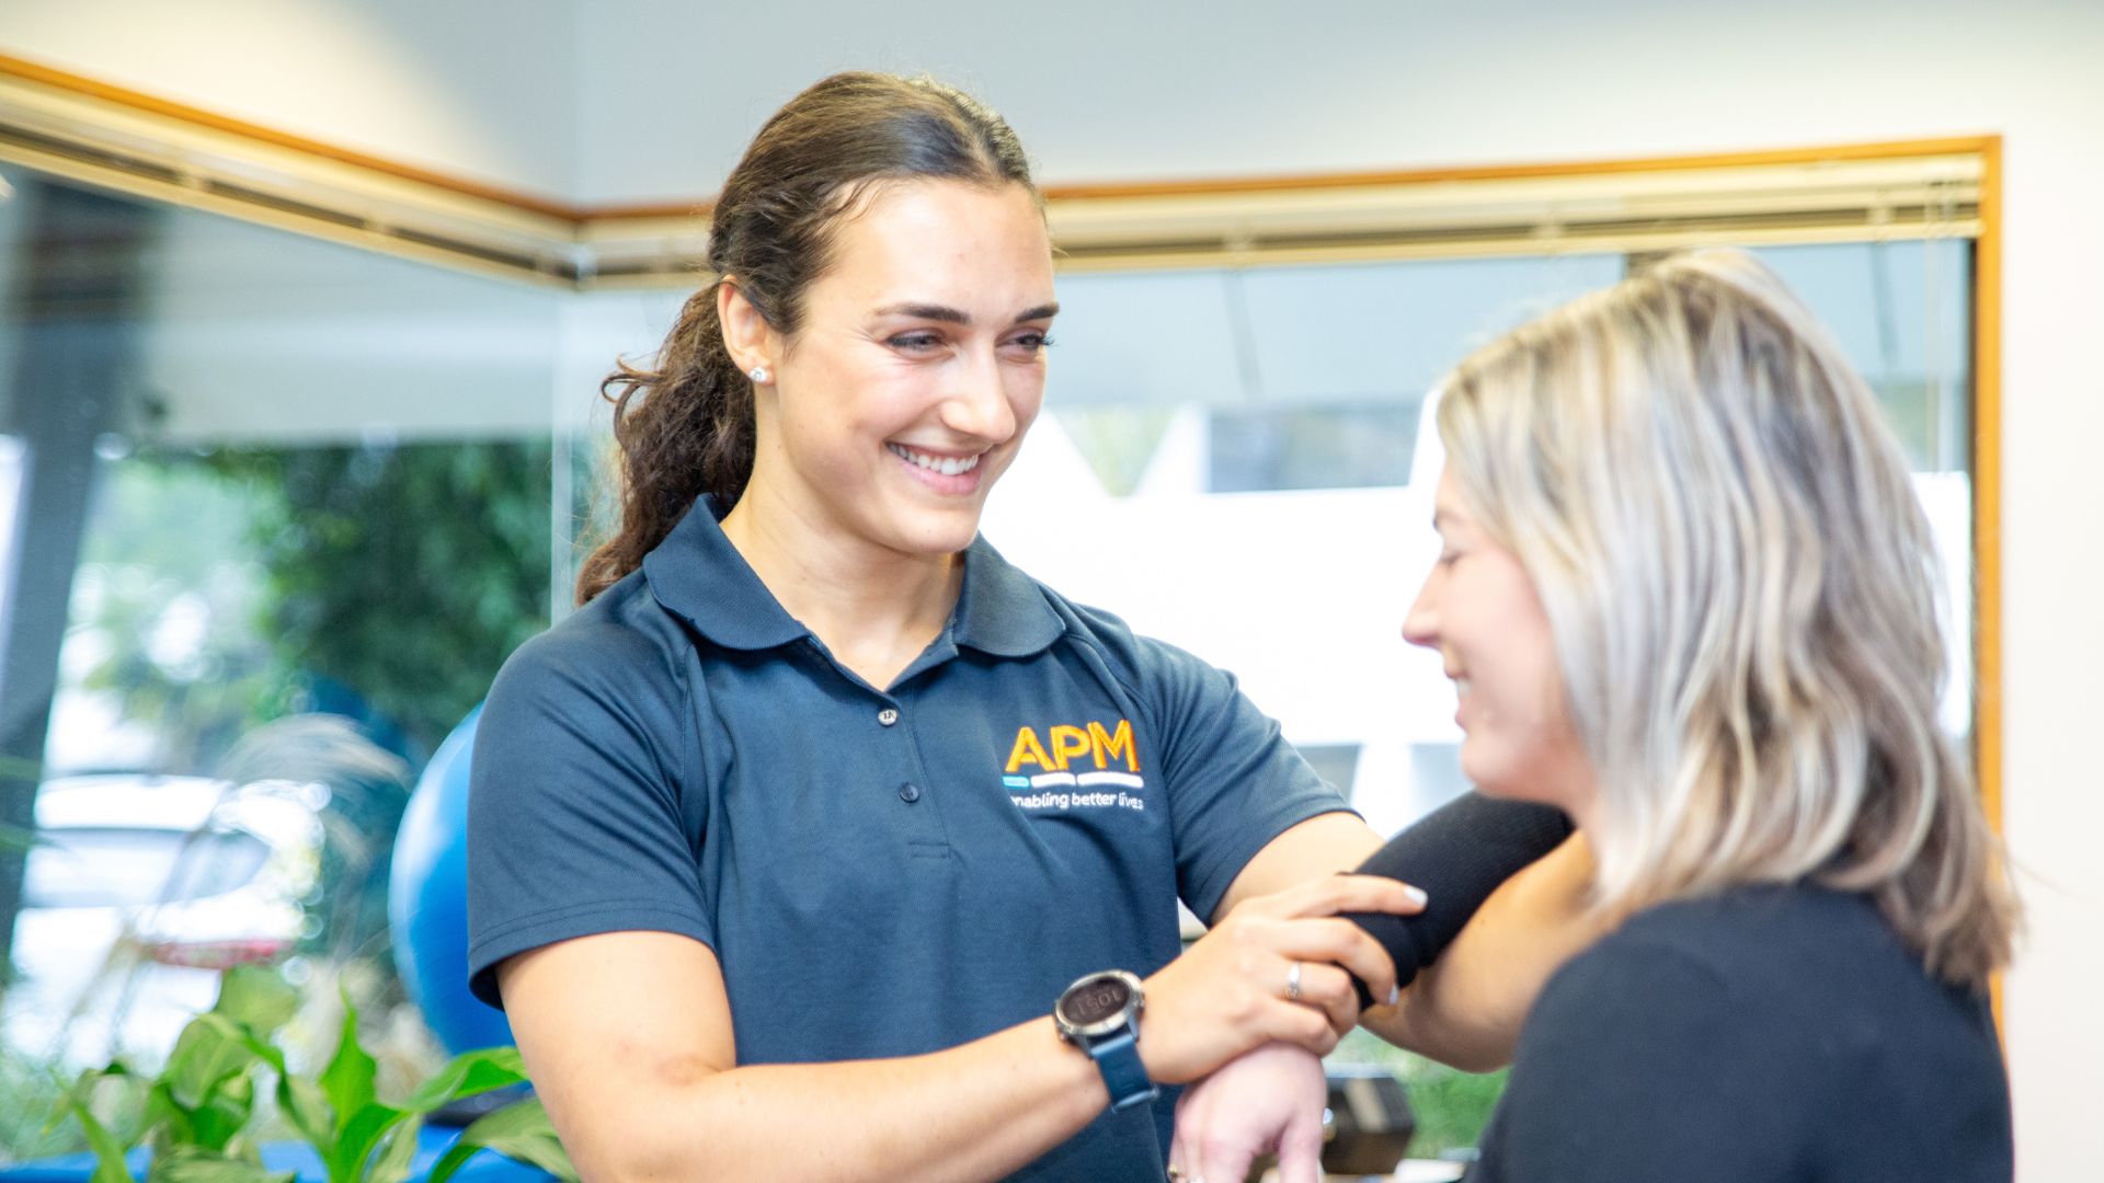
<instances>
[{"instance_id":1,"label":"upper-left white wall section above window, ending at room corner","mask_svg":"<svg viewBox=\"0 0 2104 1183\"><path fill-rule=\"evenodd\" d=\"M579 143L574 0L6 0L0 53L543 196Z\"/></svg>"}]
</instances>

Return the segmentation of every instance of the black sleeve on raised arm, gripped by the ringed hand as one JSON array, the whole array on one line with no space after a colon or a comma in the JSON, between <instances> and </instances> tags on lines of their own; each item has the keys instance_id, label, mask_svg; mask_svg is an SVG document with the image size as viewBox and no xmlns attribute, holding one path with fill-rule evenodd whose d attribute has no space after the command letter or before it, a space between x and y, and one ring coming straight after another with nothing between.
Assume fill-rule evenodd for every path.
<instances>
[{"instance_id":1,"label":"black sleeve on raised arm, gripped by the ringed hand","mask_svg":"<svg viewBox=\"0 0 2104 1183\"><path fill-rule=\"evenodd\" d=\"M1557 808L1462 794L1391 838L1359 865L1361 876L1389 876L1424 888L1424 911L1416 916L1361 911L1349 914L1349 920L1365 928L1395 958L1395 985L1410 985L1418 970L1433 964L1454 941L1498 884L1555 850L1570 834L1572 823ZM1359 983L1359 1006L1370 1004L1372 996L1365 983Z\"/></svg>"}]
</instances>

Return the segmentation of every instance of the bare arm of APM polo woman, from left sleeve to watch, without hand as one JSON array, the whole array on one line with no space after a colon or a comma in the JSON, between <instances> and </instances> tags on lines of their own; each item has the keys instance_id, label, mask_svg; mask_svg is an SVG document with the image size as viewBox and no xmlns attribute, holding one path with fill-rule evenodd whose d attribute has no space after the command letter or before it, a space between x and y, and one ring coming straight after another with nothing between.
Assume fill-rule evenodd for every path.
<instances>
[{"instance_id":1,"label":"bare arm of APM polo woman, from left sleeve to watch, without hand","mask_svg":"<svg viewBox=\"0 0 2104 1183\"><path fill-rule=\"evenodd\" d=\"M997 1179L1109 1103L1039 1019L924 1057L736 1067L715 954L606 933L503 962L526 1067L585 1179ZM1048 1000L1050 1002L1050 1000Z\"/></svg>"}]
</instances>

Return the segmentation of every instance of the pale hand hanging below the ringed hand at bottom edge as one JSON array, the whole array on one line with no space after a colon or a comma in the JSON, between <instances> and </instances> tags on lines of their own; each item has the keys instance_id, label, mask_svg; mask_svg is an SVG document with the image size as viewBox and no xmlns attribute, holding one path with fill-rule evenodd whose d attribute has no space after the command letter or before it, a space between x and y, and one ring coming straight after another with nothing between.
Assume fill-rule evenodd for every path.
<instances>
[{"instance_id":1,"label":"pale hand hanging below the ringed hand at bottom edge","mask_svg":"<svg viewBox=\"0 0 2104 1183\"><path fill-rule=\"evenodd\" d=\"M1290 1044L1265 1044L1176 1101L1170 1166L1182 1179L1241 1183L1258 1156L1277 1151L1279 1183L1319 1183L1328 1099L1321 1059Z\"/></svg>"}]
</instances>

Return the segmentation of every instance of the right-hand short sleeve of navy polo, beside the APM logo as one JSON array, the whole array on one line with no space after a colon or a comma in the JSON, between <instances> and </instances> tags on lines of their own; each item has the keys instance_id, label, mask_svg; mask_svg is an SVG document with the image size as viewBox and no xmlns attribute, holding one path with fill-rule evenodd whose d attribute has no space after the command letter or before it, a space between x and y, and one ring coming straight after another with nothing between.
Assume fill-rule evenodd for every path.
<instances>
[{"instance_id":1,"label":"right-hand short sleeve of navy polo, beside the APM logo","mask_svg":"<svg viewBox=\"0 0 2104 1183\"><path fill-rule=\"evenodd\" d=\"M1176 829L1176 893L1212 922L1235 876L1273 838L1351 806L1233 674L1161 642L1142 642L1142 661Z\"/></svg>"}]
</instances>

